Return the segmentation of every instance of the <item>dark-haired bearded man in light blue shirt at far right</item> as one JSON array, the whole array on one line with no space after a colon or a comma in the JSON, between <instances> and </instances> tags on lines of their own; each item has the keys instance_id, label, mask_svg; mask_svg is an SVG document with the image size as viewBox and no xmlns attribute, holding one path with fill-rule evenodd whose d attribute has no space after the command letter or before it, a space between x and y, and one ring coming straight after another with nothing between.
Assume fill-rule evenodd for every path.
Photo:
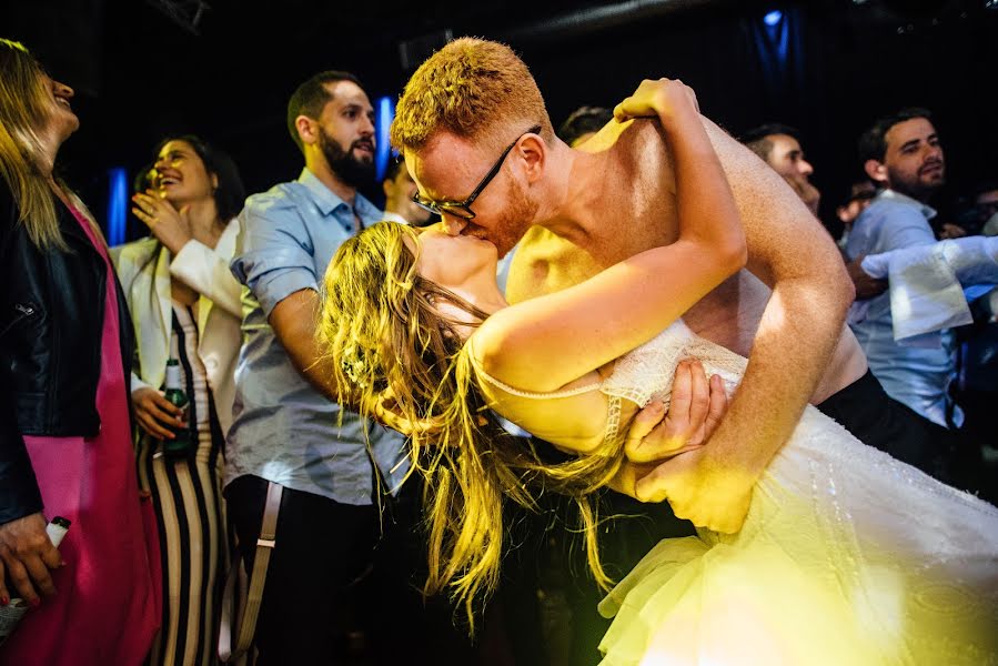
<instances>
[{"instance_id":1,"label":"dark-haired bearded man in light blue shirt at far right","mask_svg":"<svg viewBox=\"0 0 998 666\"><path fill-rule=\"evenodd\" d=\"M929 112L906 109L880 119L859 145L867 175L886 189L857 218L847 258L935 243L929 220L936 211L927 202L944 184L945 161ZM960 426L962 413L948 393L956 370L950 330L933 346L895 341L888 293L857 301L849 321L870 370L891 397L935 424L941 438L941 428Z\"/></svg>"}]
</instances>

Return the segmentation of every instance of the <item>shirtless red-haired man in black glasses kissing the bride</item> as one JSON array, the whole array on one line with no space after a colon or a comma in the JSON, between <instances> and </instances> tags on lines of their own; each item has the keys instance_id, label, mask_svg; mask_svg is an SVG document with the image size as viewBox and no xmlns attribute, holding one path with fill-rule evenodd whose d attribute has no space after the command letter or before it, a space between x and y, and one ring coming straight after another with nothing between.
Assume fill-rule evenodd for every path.
<instances>
[{"instance_id":1,"label":"shirtless red-haired man in black glasses kissing the bride","mask_svg":"<svg viewBox=\"0 0 998 666\"><path fill-rule=\"evenodd\" d=\"M749 365L709 445L639 470L652 471L631 491L643 501L667 498L696 525L734 532L808 398L819 404L864 387L867 365L844 327L853 287L830 236L778 174L704 123L743 216L749 261L684 320ZM420 202L452 233L487 239L500 256L520 242L511 302L677 236L681 212L659 124L612 122L582 150L568 148L526 65L503 44L460 39L424 62L399 101L392 143ZM846 425L874 443L863 418ZM631 452L635 463L656 457L661 452Z\"/></svg>"}]
</instances>

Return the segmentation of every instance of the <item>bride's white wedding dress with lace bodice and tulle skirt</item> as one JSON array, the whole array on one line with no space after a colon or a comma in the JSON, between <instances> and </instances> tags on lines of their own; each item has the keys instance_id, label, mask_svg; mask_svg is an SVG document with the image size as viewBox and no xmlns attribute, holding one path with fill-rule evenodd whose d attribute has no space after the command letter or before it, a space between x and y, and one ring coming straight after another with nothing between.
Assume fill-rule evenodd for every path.
<instances>
[{"instance_id":1,"label":"bride's white wedding dress with lace bodice and tulle skirt","mask_svg":"<svg viewBox=\"0 0 998 666\"><path fill-rule=\"evenodd\" d=\"M728 392L746 364L676 322L599 390L667 398L690 356ZM613 666L998 664L998 509L807 407L738 534L661 542L599 610Z\"/></svg>"}]
</instances>

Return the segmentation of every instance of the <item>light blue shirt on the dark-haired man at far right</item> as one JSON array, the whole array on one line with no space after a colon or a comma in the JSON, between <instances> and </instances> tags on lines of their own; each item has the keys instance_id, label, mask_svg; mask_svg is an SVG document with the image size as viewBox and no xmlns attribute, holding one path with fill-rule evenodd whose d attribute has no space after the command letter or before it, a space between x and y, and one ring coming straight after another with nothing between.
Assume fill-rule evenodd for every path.
<instances>
[{"instance_id":1,"label":"light blue shirt on the dark-haired man at far right","mask_svg":"<svg viewBox=\"0 0 998 666\"><path fill-rule=\"evenodd\" d=\"M851 261L860 254L935 243L936 236L928 223L935 216L936 211L931 208L894 190L885 190L856 219L846 244L846 256ZM952 331L942 331L941 344L935 347L898 343L894 340L889 292L857 302L853 307L865 309L861 321L849 325L866 352L870 371L887 394L929 421L946 426L946 412L950 406L947 389L956 376ZM956 425L962 424L964 414L959 407L954 406L952 418Z\"/></svg>"}]
</instances>

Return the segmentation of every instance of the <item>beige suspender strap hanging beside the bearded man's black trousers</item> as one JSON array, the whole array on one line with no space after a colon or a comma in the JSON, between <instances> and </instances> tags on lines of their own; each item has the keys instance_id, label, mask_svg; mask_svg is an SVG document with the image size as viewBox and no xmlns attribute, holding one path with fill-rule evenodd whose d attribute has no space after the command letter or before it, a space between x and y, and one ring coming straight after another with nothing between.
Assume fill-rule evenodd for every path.
<instances>
[{"instance_id":1,"label":"beige suspender strap hanging beside the bearded man's black trousers","mask_svg":"<svg viewBox=\"0 0 998 666\"><path fill-rule=\"evenodd\" d=\"M278 514L281 511L281 494L283 486L273 482L266 488L266 504L263 508L263 521L260 525L260 537L256 539L256 554L253 557L253 571L250 579L242 589L249 588L245 596L235 599L235 582L243 572L242 557L239 549L232 558L232 566L225 577L225 591L222 595L222 623L219 627L219 658L224 663L234 662L245 653L253 643L253 634L256 632L256 617L260 615L260 604L263 601L263 585L266 582L266 566L270 564L271 551L278 536ZM238 607L240 620L233 624ZM235 645L232 645L232 629L239 632Z\"/></svg>"}]
</instances>

